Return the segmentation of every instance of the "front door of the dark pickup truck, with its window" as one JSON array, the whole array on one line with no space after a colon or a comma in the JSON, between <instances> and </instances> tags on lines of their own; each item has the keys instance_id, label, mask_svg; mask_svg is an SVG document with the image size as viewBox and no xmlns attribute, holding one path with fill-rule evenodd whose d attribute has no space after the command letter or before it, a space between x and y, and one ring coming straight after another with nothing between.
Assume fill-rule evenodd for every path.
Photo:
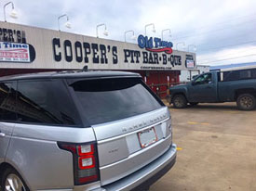
<instances>
[{"instance_id":1,"label":"front door of the dark pickup truck, with its window","mask_svg":"<svg viewBox=\"0 0 256 191\"><path fill-rule=\"evenodd\" d=\"M204 73L188 85L189 102L216 102L217 86L213 73Z\"/></svg>"}]
</instances>

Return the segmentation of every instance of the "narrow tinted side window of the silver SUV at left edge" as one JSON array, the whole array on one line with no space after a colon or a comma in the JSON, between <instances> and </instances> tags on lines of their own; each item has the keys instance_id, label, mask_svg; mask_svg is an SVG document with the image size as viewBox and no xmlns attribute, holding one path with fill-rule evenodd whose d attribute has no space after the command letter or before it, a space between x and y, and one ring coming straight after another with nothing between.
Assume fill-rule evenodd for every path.
<instances>
[{"instance_id":1,"label":"narrow tinted side window of the silver SUV at left edge","mask_svg":"<svg viewBox=\"0 0 256 191\"><path fill-rule=\"evenodd\" d=\"M16 121L14 84L16 83L0 83L1 121Z\"/></svg>"}]
</instances>

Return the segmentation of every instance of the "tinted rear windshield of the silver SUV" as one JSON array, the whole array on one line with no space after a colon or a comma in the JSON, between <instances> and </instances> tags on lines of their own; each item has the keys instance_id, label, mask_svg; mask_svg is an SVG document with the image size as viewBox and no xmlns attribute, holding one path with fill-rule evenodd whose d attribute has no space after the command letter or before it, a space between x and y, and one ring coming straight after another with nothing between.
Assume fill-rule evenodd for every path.
<instances>
[{"instance_id":1,"label":"tinted rear windshield of the silver SUV","mask_svg":"<svg viewBox=\"0 0 256 191\"><path fill-rule=\"evenodd\" d=\"M140 79L78 80L71 84L90 125L161 108Z\"/></svg>"}]
</instances>

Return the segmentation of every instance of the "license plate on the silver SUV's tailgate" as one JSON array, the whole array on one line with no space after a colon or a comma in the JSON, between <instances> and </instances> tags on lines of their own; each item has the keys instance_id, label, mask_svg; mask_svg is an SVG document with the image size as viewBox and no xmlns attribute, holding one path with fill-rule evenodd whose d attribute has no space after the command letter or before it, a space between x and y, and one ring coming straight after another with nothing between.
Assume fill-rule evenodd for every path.
<instances>
[{"instance_id":1,"label":"license plate on the silver SUV's tailgate","mask_svg":"<svg viewBox=\"0 0 256 191\"><path fill-rule=\"evenodd\" d=\"M138 136L139 136L139 141L142 148L146 146L150 146L157 141L157 136L155 134L155 127L151 127L150 129L139 132Z\"/></svg>"}]
</instances>

